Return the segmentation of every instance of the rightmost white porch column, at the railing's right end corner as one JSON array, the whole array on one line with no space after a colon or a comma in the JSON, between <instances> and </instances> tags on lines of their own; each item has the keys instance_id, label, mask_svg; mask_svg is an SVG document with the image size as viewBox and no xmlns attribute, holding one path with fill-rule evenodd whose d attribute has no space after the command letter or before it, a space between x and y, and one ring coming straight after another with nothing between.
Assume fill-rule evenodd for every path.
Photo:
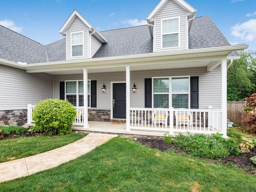
<instances>
[{"instance_id":1,"label":"rightmost white porch column, at the railing's right end corner","mask_svg":"<svg viewBox=\"0 0 256 192\"><path fill-rule=\"evenodd\" d=\"M221 63L221 132L227 137L227 60Z\"/></svg>"}]
</instances>

